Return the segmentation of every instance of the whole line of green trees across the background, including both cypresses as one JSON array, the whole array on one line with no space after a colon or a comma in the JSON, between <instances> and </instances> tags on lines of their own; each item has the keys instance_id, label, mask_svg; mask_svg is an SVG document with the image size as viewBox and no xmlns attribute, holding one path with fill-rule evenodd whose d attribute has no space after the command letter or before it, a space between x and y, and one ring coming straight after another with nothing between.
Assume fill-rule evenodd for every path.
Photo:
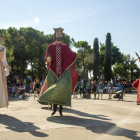
<instances>
[{"instance_id":1,"label":"whole line of green trees across the background, including both cypresses","mask_svg":"<svg viewBox=\"0 0 140 140\"><path fill-rule=\"evenodd\" d=\"M44 32L28 28L0 29L4 36L3 46L7 50L7 61L12 67L11 77L13 75L26 75L32 78L46 77L45 54L49 44L54 42L54 34L45 35ZM97 39L95 39L97 40ZM76 69L79 77L88 78L87 70L94 71L94 79L97 76L105 77L110 80L113 76L119 75L121 78L134 80L140 77L140 69L134 63L134 58L130 55L124 55L117 46L111 42L110 33L106 36L105 44L94 40L93 49L87 41L75 42L73 38L64 33L63 43L70 48L77 48ZM28 70L28 65L31 69ZM111 67L114 66L112 72Z\"/></svg>"}]
</instances>

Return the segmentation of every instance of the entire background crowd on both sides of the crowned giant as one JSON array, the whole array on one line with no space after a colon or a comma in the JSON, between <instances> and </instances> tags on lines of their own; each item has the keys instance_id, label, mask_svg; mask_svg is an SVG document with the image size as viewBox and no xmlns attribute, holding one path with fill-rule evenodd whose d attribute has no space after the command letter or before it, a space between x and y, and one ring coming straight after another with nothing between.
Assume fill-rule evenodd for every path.
<instances>
[{"instance_id":1,"label":"entire background crowd on both sides of the crowned giant","mask_svg":"<svg viewBox=\"0 0 140 140\"><path fill-rule=\"evenodd\" d=\"M39 98L39 94L41 88L43 86L44 80L39 81L35 79L31 81L29 84L29 96L34 95L34 99L36 97ZM108 99L112 99L112 93L115 92L116 89L121 89L123 96L125 96L125 88L130 87L130 83L126 81L108 81L104 82L104 80L99 81L91 81L90 79L85 82L82 78L79 82L77 82L74 92L73 98L77 98L77 93L79 92L81 98L91 98L91 94L94 94L93 99L103 99L103 92L107 92L109 95ZM7 88L8 88L8 96L18 96L19 99L25 99L26 93L26 79L19 78L15 76L13 79L7 79ZM130 89L130 88L129 88ZM98 93L98 97L97 94Z\"/></svg>"}]
</instances>

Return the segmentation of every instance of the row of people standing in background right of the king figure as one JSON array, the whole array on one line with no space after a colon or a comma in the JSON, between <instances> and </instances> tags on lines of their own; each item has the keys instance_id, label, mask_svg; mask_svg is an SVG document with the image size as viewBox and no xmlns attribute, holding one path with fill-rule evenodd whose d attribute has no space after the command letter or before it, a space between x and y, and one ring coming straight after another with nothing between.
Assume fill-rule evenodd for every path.
<instances>
[{"instance_id":1,"label":"row of people standing in background right of the king figure","mask_svg":"<svg viewBox=\"0 0 140 140\"><path fill-rule=\"evenodd\" d=\"M121 98L123 99L123 96L125 96L126 87L129 87L130 90L131 87L130 82L122 80L104 82L103 79L99 81L96 80L91 81L89 79L88 82L85 82L81 78L81 80L77 82L77 85L73 93L73 98L77 98L77 92L79 91L81 98L86 97L91 98L91 93L93 93L94 94L93 99L100 99L100 95L101 99L103 99L103 91L105 90L105 92L107 92L109 95L108 99L112 99L112 93L115 92L115 90L116 91L119 90L119 92L121 92ZM98 97L96 97L96 93L98 93Z\"/></svg>"}]
</instances>

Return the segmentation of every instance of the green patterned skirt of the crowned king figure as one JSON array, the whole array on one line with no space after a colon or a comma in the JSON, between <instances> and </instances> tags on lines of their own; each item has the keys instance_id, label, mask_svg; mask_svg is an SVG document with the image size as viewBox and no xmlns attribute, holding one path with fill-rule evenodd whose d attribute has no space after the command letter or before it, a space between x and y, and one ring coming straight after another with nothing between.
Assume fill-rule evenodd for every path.
<instances>
[{"instance_id":1,"label":"green patterned skirt of the crowned king figure","mask_svg":"<svg viewBox=\"0 0 140 140\"><path fill-rule=\"evenodd\" d=\"M65 70L59 80L49 70L44 86L47 87L47 90L40 96L38 100L40 104L71 106L72 77L69 70Z\"/></svg>"}]
</instances>

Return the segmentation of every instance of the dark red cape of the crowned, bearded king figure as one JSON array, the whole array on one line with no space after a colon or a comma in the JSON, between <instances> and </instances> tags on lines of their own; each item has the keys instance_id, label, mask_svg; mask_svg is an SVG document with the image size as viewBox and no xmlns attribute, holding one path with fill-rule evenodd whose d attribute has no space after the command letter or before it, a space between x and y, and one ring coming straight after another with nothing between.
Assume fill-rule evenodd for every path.
<instances>
[{"instance_id":1,"label":"dark red cape of the crowned, bearded king figure","mask_svg":"<svg viewBox=\"0 0 140 140\"><path fill-rule=\"evenodd\" d=\"M56 72L56 43L52 43L48 46L46 51L45 58L49 57L52 58L51 65L47 64L48 69L50 69L53 74L57 77ZM66 69L70 70L72 76L72 91L76 85L78 80L78 73L75 70L75 62L77 59L77 55L75 52L71 51L71 49L66 44L61 44L61 75L57 79L59 80Z\"/></svg>"}]
</instances>

